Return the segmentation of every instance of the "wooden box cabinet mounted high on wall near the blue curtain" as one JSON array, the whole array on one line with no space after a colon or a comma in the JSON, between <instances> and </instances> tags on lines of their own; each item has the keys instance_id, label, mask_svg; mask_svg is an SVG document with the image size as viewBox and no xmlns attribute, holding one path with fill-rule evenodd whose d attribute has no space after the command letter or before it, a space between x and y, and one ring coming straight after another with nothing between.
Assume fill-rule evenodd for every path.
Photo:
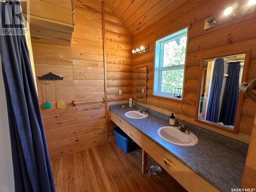
<instances>
[{"instance_id":1,"label":"wooden box cabinet mounted high on wall near the blue curtain","mask_svg":"<svg viewBox=\"0 0 256 192\"><path fill-rule=\"evenodd\" d=\"M29 5L22 3L22 8L32 41L70 46L75 25L73 0L33 0Z\"/></svg>"}]
</instances>

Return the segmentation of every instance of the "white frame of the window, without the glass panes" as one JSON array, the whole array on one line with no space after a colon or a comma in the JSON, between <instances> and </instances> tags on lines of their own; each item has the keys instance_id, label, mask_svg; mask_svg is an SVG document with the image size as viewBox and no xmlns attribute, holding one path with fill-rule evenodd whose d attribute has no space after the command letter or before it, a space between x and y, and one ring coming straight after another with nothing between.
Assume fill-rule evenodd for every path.
<instances>
[{"instance_id":1,"label":"white frame of the window, without the glass panes","mask_svg":"<svg viewBox=\"0 0 256 192\"><path fill-rule=\"evenodd\" d=\"M174 41L176 39L187 37L186 39L186 50L185 50L185 61L184 64L176 65L176 66L168 66L163 67L163 47L164 44ZM169 34L163 38L156 40L155 42L155 67L154 67L154 84L153 84L153 95L166 97L169 99L176 99L176 100L183 100L184 97L184 79L185 79L185 66L186 66L186 58L187 58L187 45L188 45L188 27L179 30L175 33ZM177 98L174 97L174 93L166 93L161 91L162 86L162 71L169 71L169 70L179 70L183 69L183 83L182 83L182 97Z\"/></svg>"}]
</instances>

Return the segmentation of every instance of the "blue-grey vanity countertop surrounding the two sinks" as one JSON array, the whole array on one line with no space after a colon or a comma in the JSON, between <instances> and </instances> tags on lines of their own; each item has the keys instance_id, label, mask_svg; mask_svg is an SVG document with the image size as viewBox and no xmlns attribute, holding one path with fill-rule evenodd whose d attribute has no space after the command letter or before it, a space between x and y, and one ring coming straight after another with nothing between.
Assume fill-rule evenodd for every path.
<instances>
[{"instance_id":1,"label":"blue-grey vanity countertop surrounding the two sinks","mask_svg":"<svg viewBox=\"0 0 256 192\"><path fill-rule=\"evenodd\" d=\"M137 108L121 106L111 105L110 110L211 185L221 191L231 191L231 188L241 187L247 144L187 124L186 127L198 137L198 144L193 147L172 145L157 135L160 127L169 125L167 116L149 110L147 118L131 119L124 115L125 112L136 111Z\"/></svg>"}]
</instances>

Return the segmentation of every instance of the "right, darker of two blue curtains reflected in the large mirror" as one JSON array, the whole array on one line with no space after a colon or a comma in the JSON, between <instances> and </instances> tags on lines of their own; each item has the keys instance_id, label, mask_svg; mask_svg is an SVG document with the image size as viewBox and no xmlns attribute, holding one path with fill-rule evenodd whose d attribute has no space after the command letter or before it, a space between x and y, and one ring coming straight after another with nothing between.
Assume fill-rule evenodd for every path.
<instances>
[{"instance_id":1,"label":"right, darker of two blue curtains reflected in the large mirror","mask_svg":"<svg viewBox=\"0 0 256 192\"><path fill-rule=\"evenodd\" d=\"M240 61L229 62L227 71L227 80L223 95L219 122L224 125L234 125L236 118L238 96L239 96L239 74Z\"/></svg>"}]
</instances>

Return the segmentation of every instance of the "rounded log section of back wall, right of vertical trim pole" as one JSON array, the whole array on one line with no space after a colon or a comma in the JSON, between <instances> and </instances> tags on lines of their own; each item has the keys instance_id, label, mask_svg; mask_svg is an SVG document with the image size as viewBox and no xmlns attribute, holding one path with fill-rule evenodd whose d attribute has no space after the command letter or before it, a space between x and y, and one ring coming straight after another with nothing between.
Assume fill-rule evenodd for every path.
<instances>
[{"instance_id":1,"label":"rounded log section of back wall, right of vertical trim pole","mask_svg":"<svg viewBox=\"0 0 256 192\"><path fill-rule=\"evenodd\" d=\"M105 6L105 59L108 106L127 103L132 96L132 40L133 36L120 20ZM122 90L122 95L118 95ZM107 116L108 141L114 140L114 123Z\"/></svg>"}]
</instances>

